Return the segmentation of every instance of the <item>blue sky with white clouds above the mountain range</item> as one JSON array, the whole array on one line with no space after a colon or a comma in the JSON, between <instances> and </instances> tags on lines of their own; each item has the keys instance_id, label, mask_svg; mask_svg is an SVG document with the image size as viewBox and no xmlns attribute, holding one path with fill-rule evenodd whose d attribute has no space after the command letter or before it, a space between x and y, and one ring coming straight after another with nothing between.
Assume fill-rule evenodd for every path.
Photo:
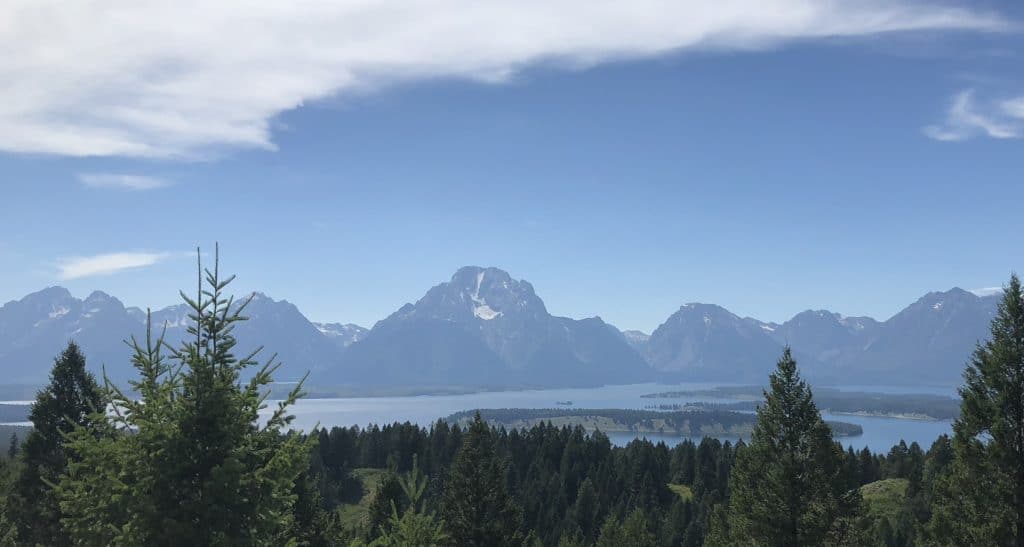
<instances>
[{"instance_id":1,"label":"blue sky with white clouds above the mountain range","mask_svg":"<svg viewBox=\"0 0 1024 547\"><path fill-rule=\"evenodd\" d=\"M17 4L0 10L28 28ZM583 22L597 34L523 3L525 28L567 37L523 45L481 14L416 34L433 56L402 38L418 23L380 23L401 39L368 34L373 55L302 22L324 47L271 51L294 29L270 25L123 65L100 55L131 43L116 27L89 47L0 31L38 59L0 61L17 77L0 91L0 301L61 285L160 307L215 241L239 292L365 326L467 264L530 281L553 313L646 331L689 301L886 319L1022 267L1022 9L835 2L791 20L763 2L777 12L675 35L660 19L680 14L655 15L676 3L649 4L633 27Z\"/></svg>"}]
</instances>

